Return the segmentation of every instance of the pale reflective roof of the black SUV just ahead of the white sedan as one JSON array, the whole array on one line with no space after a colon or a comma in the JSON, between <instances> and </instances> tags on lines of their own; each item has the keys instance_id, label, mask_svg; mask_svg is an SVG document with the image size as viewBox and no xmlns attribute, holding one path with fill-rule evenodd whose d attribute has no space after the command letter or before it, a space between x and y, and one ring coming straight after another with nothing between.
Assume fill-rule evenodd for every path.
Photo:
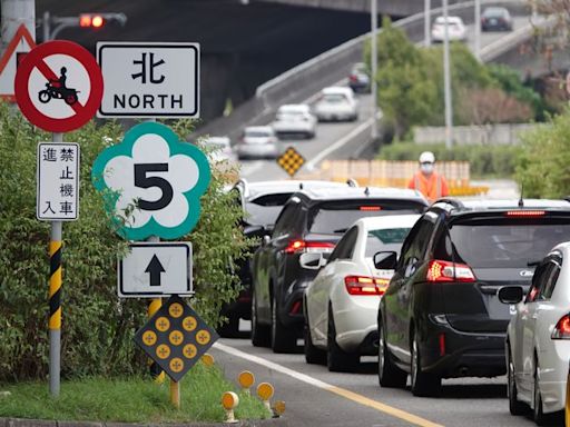
<instances>
[{"instance_id":1,"label":"pale reflective roof of the black SUV just ahead of the white sedan","mask_svg":"<svg viewBox=\"0 0 570 427\"><path fill-rule=\"evenodd\" d=\"M413 200L426 203L424 197L416 190L391 187L345 186L342 188L307 188L295 192L295 196L317 202L383 198L392 200Z\"/></svg>"}]
</instances>

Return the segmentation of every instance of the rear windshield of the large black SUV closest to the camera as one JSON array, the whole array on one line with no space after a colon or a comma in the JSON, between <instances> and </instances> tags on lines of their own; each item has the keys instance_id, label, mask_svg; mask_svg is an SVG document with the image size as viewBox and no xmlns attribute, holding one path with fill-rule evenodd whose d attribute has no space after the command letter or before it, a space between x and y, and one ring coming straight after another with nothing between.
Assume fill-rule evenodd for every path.
<instances>
[{"instance_id":1,"label":"rear windshield of the large black SUV closest to the camera","mask_svg":"<svg viewBox=\"0 0 570 427\"><path fill-rule=\"evenodd\" d=\"M475 220L450 228L435 248L436 258L473 268L527 268L542 260L556 245L570 240L570 218Z\"/></svg>"}]
</instances>

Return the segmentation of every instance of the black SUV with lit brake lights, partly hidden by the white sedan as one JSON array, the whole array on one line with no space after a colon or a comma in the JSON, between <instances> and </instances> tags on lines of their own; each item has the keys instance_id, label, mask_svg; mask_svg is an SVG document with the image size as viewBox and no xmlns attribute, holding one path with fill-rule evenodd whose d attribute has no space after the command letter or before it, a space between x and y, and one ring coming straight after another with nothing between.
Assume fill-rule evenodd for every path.
<instances>
[{"instance_id":1,"label":"black SUV with lit brake lights, partly hidden by the white sedan","mask_svg":"<svg viewBox=\"0 0 570 427\"><path fill-rule=\"evenodd\" d=\"M304 325L303 292L316 270L299 265L305 252L330 255L362 217L419 214L428 207L416 191L393 188L305 189L292 196L252 260L252 342L276 352L296 348Z\"/></svg>"}]
</instances>

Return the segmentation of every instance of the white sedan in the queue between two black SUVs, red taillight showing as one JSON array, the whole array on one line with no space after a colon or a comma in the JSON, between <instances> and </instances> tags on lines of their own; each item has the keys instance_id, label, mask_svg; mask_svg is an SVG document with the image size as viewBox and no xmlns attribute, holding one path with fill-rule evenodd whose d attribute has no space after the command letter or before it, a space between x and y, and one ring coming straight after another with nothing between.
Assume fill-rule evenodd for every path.
<instances>
[{"instance_id":1,"label":"white sedan in the queue between two black SUVs, red taillight showing","mask_svg":"<svg viewBox=\"0 0 570 427\"><path fill-rule=\"evenodd\" d=\"M381 212L379 211L381 215ZM351 370L360 356L375 355L380 298L393 270L379 270L379 251L400 252L419 215L386 215L357 220L338 241L326 262L323 254L304 254L305 268L325 267L306 288L305 359L326 360L330 370Z\"/></svg>"}]
</instances>

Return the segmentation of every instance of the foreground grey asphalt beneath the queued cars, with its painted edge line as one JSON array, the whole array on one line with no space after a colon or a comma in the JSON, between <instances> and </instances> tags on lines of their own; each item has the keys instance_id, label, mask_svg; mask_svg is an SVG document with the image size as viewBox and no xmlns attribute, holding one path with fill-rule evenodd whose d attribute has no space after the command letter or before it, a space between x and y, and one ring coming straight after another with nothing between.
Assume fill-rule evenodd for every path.
<instances>
[{"instance_id":1,"label":"foreground grey asphalt beneath the queued cars, with its painted edge line","mask_svg":"<svg viewBox=\"0 0 570 427\"><path fill-rule=\"evenodd\" d=\"M410 387L380 388L374 357L364 358L355 373L337 374L306 364L302 352L275 355L253 347L248 338L220 339L212 354L226 378L237 383L247 369L256 385L273 384L274 400L285 401L289 426L535 426L529 417L509 414L504 377L443 380L440 397L421 398L412 396ZM556 419L552 425L557 423L563 425Z\"/></svg>"}]
</instances>

